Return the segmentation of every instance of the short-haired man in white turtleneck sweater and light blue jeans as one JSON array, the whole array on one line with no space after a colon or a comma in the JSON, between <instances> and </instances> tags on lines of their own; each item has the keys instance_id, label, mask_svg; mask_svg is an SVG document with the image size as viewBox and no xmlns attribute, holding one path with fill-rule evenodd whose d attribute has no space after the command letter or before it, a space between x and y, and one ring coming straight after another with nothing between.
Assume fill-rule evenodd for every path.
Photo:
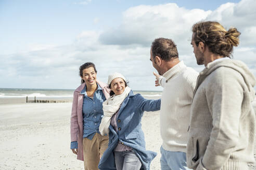
<instances>
[{"instance_id":1,"label":"short-haired man in white turtleneck sweater and light blue jeans","mask_svg":"<svg viewBox=\"0 0 256 170\"><path fill-rule=\"evenodd\" d=\"M157 38L150 49L150 61L159 73L156 83L163 87L160 110L161 169L188 169L187 130L193 91L198 73L178 59L171 39ZM157 86L157 85L156 85Z\"/></svg>"}]
</instances>

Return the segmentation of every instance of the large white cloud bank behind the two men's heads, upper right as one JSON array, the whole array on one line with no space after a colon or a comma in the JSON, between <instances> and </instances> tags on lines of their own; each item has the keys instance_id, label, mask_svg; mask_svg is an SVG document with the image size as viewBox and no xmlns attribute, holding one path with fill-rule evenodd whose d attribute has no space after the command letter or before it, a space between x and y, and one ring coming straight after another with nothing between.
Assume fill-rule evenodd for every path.
<instances>
[{"instance_id":1,"label":"large white cloud bank behind the two men's heads, upper right","mask_svg":"<svg viewBox=\"0 0 256 170\"><path fill-rule=\"evenodd\" d=\"M226 3L213 11L201 9L188 10L176 4L157 6L137 6L123 12L123 22L118 28L103 32L99 40L103 44L127 46L137 44L150 47L157 37L171 38L177 44L180 58L187 65L200 70L190 46L191 26L201 20L219 21L224 27L237 27L241 32L239 48L256 46L256 1L246 0L237 4ZM247 51L248 52L248 51ZM249 62L255 51L248 52L245 58L241 52L234 53L234 58ZM200 68L200 69L199 69Z\"/></svg>"}]
</instances>

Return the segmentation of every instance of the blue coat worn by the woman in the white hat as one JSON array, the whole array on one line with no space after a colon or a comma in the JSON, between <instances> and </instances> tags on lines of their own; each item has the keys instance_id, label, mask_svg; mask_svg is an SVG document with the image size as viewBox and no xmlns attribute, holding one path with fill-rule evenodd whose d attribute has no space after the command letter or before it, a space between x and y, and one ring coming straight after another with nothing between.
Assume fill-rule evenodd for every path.
<instances>
[{"instance_id":1,"label":"blue coat worn by the woman in the white hat","mask_svg":"<svg viewBox=\"0 0 256 170\"><path fill-rule=\"evenodd\" d=\"M144 111L160 110L161 100L147 100L142 95L133 95L131 91L119 109L117 117L118 132L109 126L109 143L99 162L99 169L116 169L113 150L120 140L126 146L133 148L142 162L143 169L149 169L150 163L157 153L145 149L145 138L142 131L142 116Z\"/></svg>"}]
</instances>

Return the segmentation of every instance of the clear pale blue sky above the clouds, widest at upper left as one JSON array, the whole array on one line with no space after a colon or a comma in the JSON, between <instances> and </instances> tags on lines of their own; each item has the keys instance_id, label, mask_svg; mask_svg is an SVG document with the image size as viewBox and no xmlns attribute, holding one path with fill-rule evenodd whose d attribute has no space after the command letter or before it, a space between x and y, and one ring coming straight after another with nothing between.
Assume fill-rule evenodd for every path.
<instances>
[{"instance_id":1,"label":"clear pale blue sky above the clouds, widest at upper left","mask_svg":"<svg viewBox=\"0 0 256 170\"><path fill-rule=\"evenodd\" d=\"M187 9L214 10L239 1L0 1L1 53L24 51L32 44L67 45L84 30L116 27L122 12L138 5L176 3Z\"/></svg>"}]
</instances>

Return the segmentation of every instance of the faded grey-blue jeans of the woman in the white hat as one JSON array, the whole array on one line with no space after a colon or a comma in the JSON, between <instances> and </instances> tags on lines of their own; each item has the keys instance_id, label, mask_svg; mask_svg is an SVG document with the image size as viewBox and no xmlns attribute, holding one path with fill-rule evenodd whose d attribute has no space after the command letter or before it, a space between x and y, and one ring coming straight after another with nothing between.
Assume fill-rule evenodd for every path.
<instances>
[{"instance_id":1,"label":"faded grey-blue jeans of the woman in the white hat","mask_svg":"<svg viewBox=\"0 0 256 170\"><path fill-rule=\"evenodd\" d=\"M117 170L139 170L142 166L133 150L114 151L114 160L116 161Z\"/></svg>"}]
</instances>

